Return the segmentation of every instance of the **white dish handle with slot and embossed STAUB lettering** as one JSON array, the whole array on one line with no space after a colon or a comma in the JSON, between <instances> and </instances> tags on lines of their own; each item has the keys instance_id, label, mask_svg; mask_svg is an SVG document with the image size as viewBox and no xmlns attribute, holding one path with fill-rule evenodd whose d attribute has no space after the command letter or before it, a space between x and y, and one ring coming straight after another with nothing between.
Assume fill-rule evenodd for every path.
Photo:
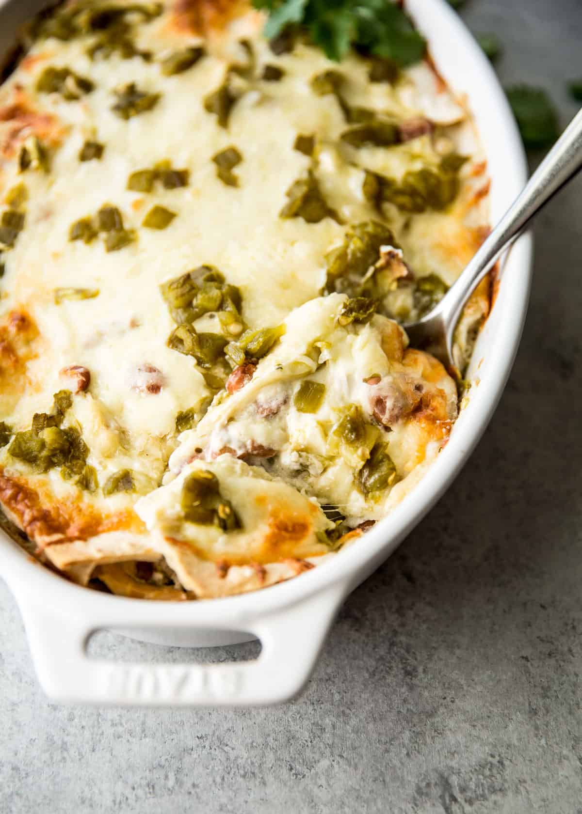
<instances>
[{"instance_id":1,"label":"white dish handle with slot and embossed STAUB lettering","mask_svg":"<svg viewBox=\"0 0 582 814\"><path fill-rule=\"evenodd\" d=\"M162 706L249 706L293 698L311 674L324 637L345 596L333 585L291 606L245 619L192 624L197 629L230 628L254 633L258 659L213 664L116 663L86 652L90 635L119 628L120 614L78 613L72 605L47 608L29 595L17 597L42 689L60 702ZM128 606L126 610L131 610ZM143 626L143 608L135 609ZM142 619L139 622L139 619ZM151 615L152 626L155 615ZM131 619L123 622L128 628ZM163 625L157 624L157 629Z\"/></svg>"}]
</instances>

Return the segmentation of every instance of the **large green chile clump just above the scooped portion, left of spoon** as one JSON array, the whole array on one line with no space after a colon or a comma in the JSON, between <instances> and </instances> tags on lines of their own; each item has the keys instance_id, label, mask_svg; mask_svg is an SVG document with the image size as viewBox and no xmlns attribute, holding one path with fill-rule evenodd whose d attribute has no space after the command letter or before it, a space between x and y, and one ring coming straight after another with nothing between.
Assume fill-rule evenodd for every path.
<instances>
[{"instance_id":1,"label":"large green chile clump just above the scooped portion, left of spoon","mask_svg":"<svg viewBox=\"0 0 582 814\"><path fill-rule=\"evenodd\" d=\"M326 293L364 295L365 275L377 263L380 249L386 245L398 247L394 234L386 225L364 221L350 226L342 245L325 255Z\"/></svg>"}]
</instances>

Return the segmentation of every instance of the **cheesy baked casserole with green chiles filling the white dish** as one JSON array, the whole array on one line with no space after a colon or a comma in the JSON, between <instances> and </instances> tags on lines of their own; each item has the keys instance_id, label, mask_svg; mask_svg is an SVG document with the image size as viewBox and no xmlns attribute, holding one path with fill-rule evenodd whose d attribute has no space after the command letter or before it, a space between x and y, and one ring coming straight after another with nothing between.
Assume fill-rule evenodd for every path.
<instances>
[{"instance_id":1,"label":"cheesy baked casserole with green chiles filling the white dish","mask_svg":"<svg viewBox=\"0 0 582 814\"><path fill-rule=\"evenodd\" d=\"M67 3L0 85L0 503L69 579L226 596L421 478L452 376L399 322L487 234L430 59L330 62L245 3ZM457 330L459 366L488 282Z\"/></svg>"}]
</instances>

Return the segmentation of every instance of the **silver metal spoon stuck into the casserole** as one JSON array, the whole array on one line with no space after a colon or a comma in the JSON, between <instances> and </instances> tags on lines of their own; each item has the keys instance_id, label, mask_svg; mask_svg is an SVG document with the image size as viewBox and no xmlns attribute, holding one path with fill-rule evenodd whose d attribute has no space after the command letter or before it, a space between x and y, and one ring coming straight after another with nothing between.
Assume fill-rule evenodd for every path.
<instances>
[{"instance_id":1,"label":"silver metal spoon stuck into the casserole","mask_svg":"<svg viewBox=\"0 0 582 814\"><path fill-rule=\"evenodd\" d=\"M461 277L418 322L404 325L414 348L429 348L447 367L456 367L452 339L470 295L510 243L550 198L582 169L582 110L562 133L526 186L487 237Z\"/></svg>"}]
</instances>

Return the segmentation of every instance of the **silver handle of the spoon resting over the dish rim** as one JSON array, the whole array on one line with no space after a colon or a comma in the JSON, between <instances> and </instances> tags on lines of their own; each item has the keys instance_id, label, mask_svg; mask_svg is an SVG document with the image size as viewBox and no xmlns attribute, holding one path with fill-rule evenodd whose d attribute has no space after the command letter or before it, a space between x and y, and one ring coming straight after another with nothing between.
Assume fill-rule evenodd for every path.
<instances>
[{"instance_id":1,"label":"silver handle of the spoon resting over the dish rim","mask_svg":"<svg viewBox=\"0 0 582 814\"><path fill-rule=\"evenodd\" d=\"M483 280L501 252L521 234L527 222L582 169L582 110L576 114L558 142L533 173L527 185L483 242L461 277L440 302L439 311L450 334L466 301Z\"/></svg>"}]
</instances>

